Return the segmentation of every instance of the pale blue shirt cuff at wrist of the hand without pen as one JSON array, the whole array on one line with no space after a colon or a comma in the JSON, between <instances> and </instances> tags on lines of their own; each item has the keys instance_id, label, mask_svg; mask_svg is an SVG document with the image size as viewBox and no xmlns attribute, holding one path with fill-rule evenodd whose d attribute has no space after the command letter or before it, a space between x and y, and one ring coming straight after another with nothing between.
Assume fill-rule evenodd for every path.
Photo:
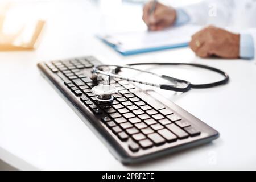
<instances>
[{"instance_id":1,"label":"pale blue shirt cuff at wrist of the hand without pen","mask_svg":"<svg viewBox=\"0 0 256 182\"><path fill-rule=\"evenodd\" d=\"M251 36L250 34L240 34L239 56L242 59L253 59L254 43L253 36Z\"/></svg>"}]
</instances>

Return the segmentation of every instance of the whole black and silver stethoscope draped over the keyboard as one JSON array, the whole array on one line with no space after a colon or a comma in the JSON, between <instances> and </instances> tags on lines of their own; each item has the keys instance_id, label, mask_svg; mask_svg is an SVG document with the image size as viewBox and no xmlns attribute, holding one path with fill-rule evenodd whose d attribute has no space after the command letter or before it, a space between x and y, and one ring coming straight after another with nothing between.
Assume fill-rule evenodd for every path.
<instances>
[{"instance_id":1,"label":"whole black and silver stethoscope draped over the keyboard","mask_svg":"<svg viewBox=\"0 0 256 182\"><path fill-rule=\"evenodd\" d=\"M210 71L219 73L220 75L224 76L224 78L220 81L211 82L208 84L191 84L191 82L189 82L187 80L181 80L181 79L174 78L171 76L159 75L154 72L144 71L142 69L133 68L132 66L135 66L135 65L188 65L191 67L208 69ZM109 69L108 71L104 71L104 68L110 68L110 67L115 67L115 68ZM149 73L151 75L163 78L164 80L168 80L168 81L172 82L173 85L153 84L152 82L135 80L133 78L123 77L121 75L115 74L115 73L118 73L119 71L121 71L122 68L132 69L132 70L143 72L143 73ZM124 66L102 64L102 65L97 65L96 67L94 67L92 72L93 72L93 75L92 75L93 80L102 80L102 78L99 79L98 76L99 75L105 76L104 84L97 85L92 88L92 93L96 94L96 101L98 101L98 102L112 102L113 101L113 99L114 99L113 94L117 93L117 88L115 88L115 86L113 86L113 85L110 85L110 80L112 78L119 78L121 80L126 80L129 82L137 82L139 84L155 86L160 89L172 90L172 91L176 91L176 92L187 92L191 88L196 88L196 89L212 88L214 86L226 84L229 81L229 76L224 71L221 71L220 69L217 69L217 68L209 67L207 65L193 64L193 63L134 63L134 64L127 64Z\"/></svg>"}]
</instances>

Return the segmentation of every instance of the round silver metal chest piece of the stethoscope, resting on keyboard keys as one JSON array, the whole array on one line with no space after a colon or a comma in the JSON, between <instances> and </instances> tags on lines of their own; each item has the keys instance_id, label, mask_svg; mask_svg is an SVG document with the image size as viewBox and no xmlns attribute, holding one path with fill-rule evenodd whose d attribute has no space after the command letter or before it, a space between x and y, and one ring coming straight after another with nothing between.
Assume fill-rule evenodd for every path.
<instances>
[{"instance_id":1,"label":"round silver metal chest piece of the stethoscope, resting on keyboard keys","mask_svg":"<svg viewBox=\"0 0 256 182\"><path fill-rule=\"evenodd\" d=\"M97 85L92 88L92 93L97 95L96 101L98 102L112 102L113 94L117 93L117 89L111 85Z\"/></svg>"}]
</instances>

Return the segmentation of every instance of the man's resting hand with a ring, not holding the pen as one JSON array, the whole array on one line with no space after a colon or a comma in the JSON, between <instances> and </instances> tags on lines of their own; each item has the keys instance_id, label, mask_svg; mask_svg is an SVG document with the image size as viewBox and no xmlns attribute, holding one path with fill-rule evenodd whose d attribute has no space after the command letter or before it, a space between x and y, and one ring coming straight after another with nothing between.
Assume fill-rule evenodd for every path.
<instances>
[{"instance_id":1,"label":"man's resting hand with a ring, not holding the pen","mask_svg":"<svg viewBox=\"0 0 256 182\"><path fill-rule=\"evenodd\" d=\"M189 46L200 57L234 59L239 57L239 42L239 34L209 26L194 34Z\"/></svg>"}]
</instances>

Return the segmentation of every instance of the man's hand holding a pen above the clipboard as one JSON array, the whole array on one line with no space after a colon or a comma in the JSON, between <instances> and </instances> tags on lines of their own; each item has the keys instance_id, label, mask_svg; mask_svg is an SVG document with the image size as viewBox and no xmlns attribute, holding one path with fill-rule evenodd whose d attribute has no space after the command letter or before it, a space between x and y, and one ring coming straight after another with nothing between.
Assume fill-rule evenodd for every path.
<instances>
[{"instance_id":1,"label":"man's hand holding a pen above the clipboard","mask_svg":"<svg viewBox=\"0 0 256 182\"><path fill-rule=\"evenodd\" d=\"M147 3L143 8L142 19L147 24L148 28L156 31L172 26L176 19L175 9L156 3L154 12L150 14L152 3L152 1Z\"/></svg>"}]
</instances>

